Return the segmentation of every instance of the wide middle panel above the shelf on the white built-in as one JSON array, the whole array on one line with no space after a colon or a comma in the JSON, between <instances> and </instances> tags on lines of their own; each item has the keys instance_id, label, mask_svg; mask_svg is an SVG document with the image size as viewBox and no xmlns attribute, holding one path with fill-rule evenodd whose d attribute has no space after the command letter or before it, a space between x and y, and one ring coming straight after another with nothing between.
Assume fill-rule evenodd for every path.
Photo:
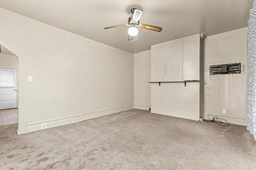
<instances>
[{"instance_id":1,"label":"wide middle panel above the shelf on the white built-in","mask_svg":"<svg viewBox=\"0 0 256 170\"><path fill-rule=\"evenodd\" d=\"M183 81L182 48L183 39L162 44L162 81Z\"/></svg>"}]
</instances>

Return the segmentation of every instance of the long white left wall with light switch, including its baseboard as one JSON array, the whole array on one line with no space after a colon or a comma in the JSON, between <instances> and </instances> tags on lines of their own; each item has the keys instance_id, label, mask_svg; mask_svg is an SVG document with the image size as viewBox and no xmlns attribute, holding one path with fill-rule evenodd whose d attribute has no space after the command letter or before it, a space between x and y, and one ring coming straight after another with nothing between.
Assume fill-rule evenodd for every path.
<instances>
[{"instance_id":1,"label":"long white left wall with light switch, including its baseboard","mask_svg":"<svg viewBox=\"0 0 256 170\"><path fill-rule=\"evenodd\" d=\"M19 134L133 108L133 54L2 8L0 20L19 58Z\"/></svg>"}]
</instances>

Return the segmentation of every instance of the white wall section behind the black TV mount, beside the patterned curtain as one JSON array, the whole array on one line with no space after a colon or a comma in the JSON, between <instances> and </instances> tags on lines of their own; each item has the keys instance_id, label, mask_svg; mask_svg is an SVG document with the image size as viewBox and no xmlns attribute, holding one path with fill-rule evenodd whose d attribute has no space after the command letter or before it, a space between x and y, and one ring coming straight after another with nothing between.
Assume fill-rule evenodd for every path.
<instances>
[{"instance_id":1,"label":"white wall section behind the black TV mount, beside the patterned curtain","mask_svg":"<svg viewBox=\"0 0 256 170\"><path fill-rule=\"evenodd\" d=\"M203 40L202 113L246 125L247 28L208 36ZM241 63L241 74L210 75L210 65ZM226 109L226 114L222 114Z\"/></svg>"}]
</instances>

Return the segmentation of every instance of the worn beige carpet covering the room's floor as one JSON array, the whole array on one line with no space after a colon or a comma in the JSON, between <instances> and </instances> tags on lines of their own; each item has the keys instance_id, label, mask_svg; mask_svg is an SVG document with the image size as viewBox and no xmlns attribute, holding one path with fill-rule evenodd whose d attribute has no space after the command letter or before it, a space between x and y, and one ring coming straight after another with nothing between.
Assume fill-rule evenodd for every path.
<instances>
[{"instance_id":1,"label":"worn beige carpet covering the room's floor","mask_svg":"<svg viewBox=\"0 0 256 170\"><path fill-rule=\"evenodd\" d=\"M0 127L1 170L256 169L245 126L222 127L132 109L16 135Z\"/></svg>"}]
</instances>

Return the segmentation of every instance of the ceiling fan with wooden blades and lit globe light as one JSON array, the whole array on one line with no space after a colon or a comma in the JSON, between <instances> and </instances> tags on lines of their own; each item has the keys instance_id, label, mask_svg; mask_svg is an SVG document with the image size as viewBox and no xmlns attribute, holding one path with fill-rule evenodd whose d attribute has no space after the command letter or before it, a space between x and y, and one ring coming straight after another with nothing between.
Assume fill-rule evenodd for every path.
<instances>
[{"instance_id":1,"label":"ceiling fan with wooden blades and lit globe light","mask_svg":"<svg viewBox=\"0 0 256 170\"><path fill-rule=\"evenodd\" d=\"M132 40L133 36L136 36L138 34L138 29L136 27L140 27L143 29L149 29L152 31L157 31L157 32L161 32L162 31L162 27L157 27L154 25L148 25L148 24L139 24L140 23L140 17L142 15L142 11L138 10L136 8L132 8L131 12L133 14L133 16L130 16L128 18L128 24L123 24L123 25L114 25L111 27L105 27L104 29L109 29L109 28L115 28L115 27L126 27L126 26L130 26L130 28L128 29L128 33L129 33L129 37L128 40Z\"/></svg>"}]
</instances>

